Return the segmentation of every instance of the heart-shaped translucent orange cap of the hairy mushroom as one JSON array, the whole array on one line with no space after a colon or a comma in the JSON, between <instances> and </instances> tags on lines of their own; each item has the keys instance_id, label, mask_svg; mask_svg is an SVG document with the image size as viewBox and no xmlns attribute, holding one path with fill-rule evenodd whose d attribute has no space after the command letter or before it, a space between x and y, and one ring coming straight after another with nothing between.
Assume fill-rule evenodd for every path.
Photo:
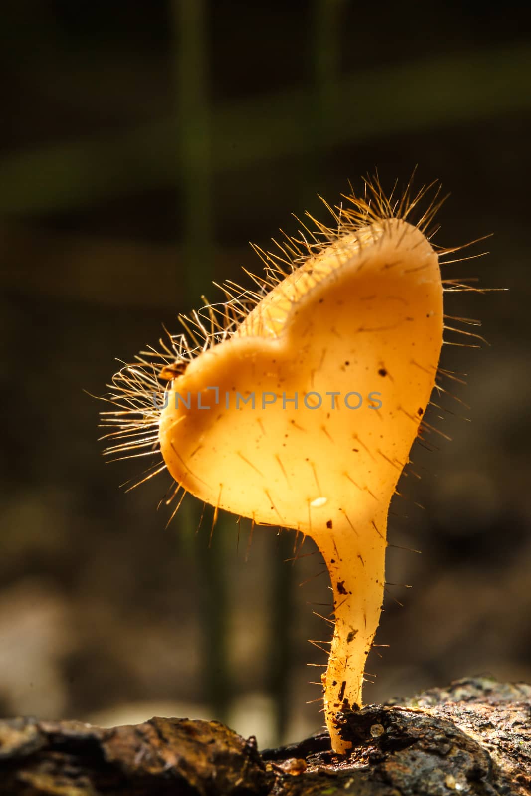
<instances>
[{"instance_id":1,"label":"heart-shaped translucent orange cap of the hairy mushroom","mask_svg":"<svg viewBox=\"0 0 531 796\"><path fill-rule=\"evenodd\" d=\"M385 219L339 236L171 381L166 466L259 524L316 537L346 513L385 522L442 335L438 257L418 228Z\"/></svg>"}]
</instances>

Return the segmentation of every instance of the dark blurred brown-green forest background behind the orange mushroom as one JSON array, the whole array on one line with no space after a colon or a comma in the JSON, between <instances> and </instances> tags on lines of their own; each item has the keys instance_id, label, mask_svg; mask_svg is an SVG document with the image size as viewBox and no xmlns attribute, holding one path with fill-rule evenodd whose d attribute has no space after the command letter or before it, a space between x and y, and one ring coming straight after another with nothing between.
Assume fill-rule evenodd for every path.
<instances>
[{"instance_id":1,"label":"dark blurred brown-green forest background behind the orange mushroom","mask_svg":"<svg viewBox=\"0 0 531 796\"><path fill-rule=\"evenodd\" d=\"M260 273L248 240L305 210L440 178L439 244L494 236L447 275L508 292L447 296L491 347L422 478L392 505L389 644L365 698L470 673L531 681L529 11L352 0L21 0L0 8L2 503L0 714L103 724L219 718L260 746L322 724L318 556L189 500L165 529L160 477L106 465L98 400L212 282ZM465 252L467 254L468 252ZM526 364L527 363L527 364ZM450 404L447 404L450 405ZM431 410L433 412L433 410ZM470 418L467 422L461 415ZM103 433L100 431L100 433ZM415 503L424 505L419 509ZM303 552L314 550L309 540ZM287 560L287 561L286 561ZM299 586L299 583L303 583ZM404 603L400 607L396 602Z\"/></svg>"}]
</instances>

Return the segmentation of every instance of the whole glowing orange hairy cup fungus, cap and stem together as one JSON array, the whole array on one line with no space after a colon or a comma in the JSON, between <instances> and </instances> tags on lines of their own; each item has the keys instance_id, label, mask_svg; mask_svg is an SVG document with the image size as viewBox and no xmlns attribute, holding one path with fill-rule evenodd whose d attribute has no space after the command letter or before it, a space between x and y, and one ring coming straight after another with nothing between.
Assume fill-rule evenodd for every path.
<instances>
[{"instance_id":1,"label":"whole glowing orange hairy cup fungus, cap and stem together","mask_svg":"<svg viewBox=\"0 0 531 796\"><path fill-rule=\"evenodd\" d=\"M167 468L174 495L215 516L315 541L334 594L322 686L337 752L349 748L337 716L361 705L380 619L389 503L443 344L439 256L455 250L427 236L438 191L412 224L425 193L408 186L394 202L366 181L364 197L329 208L333 228L311 219L310 242L261 252L259 290L231 283L225 302L182 318L185 334L116 374L118 411L106 413L118 423L111 452L162 453L143 480Z\"/></svg>"}]
</instances>

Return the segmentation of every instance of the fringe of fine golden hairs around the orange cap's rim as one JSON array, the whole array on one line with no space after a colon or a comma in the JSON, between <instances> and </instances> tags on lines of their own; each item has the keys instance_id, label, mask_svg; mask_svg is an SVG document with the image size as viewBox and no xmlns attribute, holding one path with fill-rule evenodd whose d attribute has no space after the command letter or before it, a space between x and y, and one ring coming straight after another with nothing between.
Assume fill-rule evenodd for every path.
<instances>
[{"instance_id":1,"label":"fringe of fine golden hairs around the orange cap's rim","mask_svg":"<svg viewBox=\"0 0 531 796\"><path fill-rule=\"evenodd\" d=\"M431 245L439 256L440 265L456 263L460 259L471 259L468 257L446 258L459 252L460 249L477 243L478 240L483 240L482 238L455 248L442 248L433 244L431 239L439 229L439 227L432 227L433 220L447 197L440 196L441 186L437 181L423 185L419 191L412 193L414 174L415 172L400 198L395 198L396 183L391 193L385 194L377 174L374 178L364 178L363 197L357 197L354 194L352 185L350 185L351 193L342 195L345 203L342 202L334 208L330 207L322 197L319 197L330 213L333 224L322 224L306 213L313 228L309 228L297 219L302 227L298 237L288 236L281 231L282 242L279 243L272 239L277 252L264 252L260 247L253 245L252 248L264 262L264 275L255 275L245 269L244 271L256 284L256 290L245 289L232 280L221 285L214 283L224 294L224 300L209 304L205 297L201 296L204 306L200 310L193 310L188 316L182 314L178 316L184 329L183 333L172 335L166 331L166 338L159 340L158 349L150 347L135 357L135 363L131 365L123 363L123 367L112 377L111 384L107 385L111 392L103 397L103 400L111 404L111 409L101 412L102 425L107 429L109 427L113 429L100 438L107 441L104 455L111 456L113 460L145 456L155 458L155 463L142 474L137 482L129 486L129 489L139 486L166 469L158 443L160 414L158 407L164 404L168 381L178 373L182 373L186 365L198 354L235 334L240 324L264 296L283 279L294 273L306 259L318 256L320 252L330 248L333 244L341 244L342 239L347 236L349 240L352 240L352 237L357 236L357 232L360 232L362 228L366 230L373 224L377 224L380 229L383 225L383 234L385 234L385 221L392 218L407 220L409 223L415 224L431 241ZM371 240L370 235L365 240L357 238L360 248ZM481 256L484 253L481 252L474 256ZM443 286L446 292L451 293L456 291L483 292L470 285L470 280L467 279L443 279ZM462 330L459 326L449 326L446 323L451 320L453 324L479 326L478 321L449 315L445 315L444 318L446 330L468 338L467 342L463 343L445 340L447 345L477 347L475 344L470 344L470 338L483 341L483 338L477 334ZM454 373L439 369L437 371L437 386L440 392L447 392L439 384L439 380L443 378L460 381ZM429 447L429 443L424 437L437 432L437 430L428 426L423 419L419 432L420 439L424 441L426 447ZM170 498L166 499L166 503L172 501L178 492L179 486L171 491ZM180 505L182 497L184 497L184 492L178 505ZM172 517L174 513L172 513Z\"/></svg>"}]
</instances>

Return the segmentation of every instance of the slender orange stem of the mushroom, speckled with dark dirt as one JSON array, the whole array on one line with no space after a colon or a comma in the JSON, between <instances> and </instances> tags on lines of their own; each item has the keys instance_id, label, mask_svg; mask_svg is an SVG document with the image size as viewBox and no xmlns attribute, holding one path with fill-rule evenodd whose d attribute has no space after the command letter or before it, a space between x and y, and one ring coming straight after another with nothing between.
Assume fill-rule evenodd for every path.
<instances>
[{"instance_id":1,"label":"slender orange stem of the mushroom, speckled with dark dirt","mask_svg":"<svg viewBox=\"0 0 531 796\"><path fill-rule=\"evenodd\" d=\"M384 533L378 533L375 525ZM337 716L361 707L365 663L384 597L385 517L380 525L371 520L365 530L358 527L334 523L329 535L320 534L317 539L334 592L334 638L322 675L325 719L332 748L340 753L351 744L342 740Z\"/></svg>"}]
</instances>

